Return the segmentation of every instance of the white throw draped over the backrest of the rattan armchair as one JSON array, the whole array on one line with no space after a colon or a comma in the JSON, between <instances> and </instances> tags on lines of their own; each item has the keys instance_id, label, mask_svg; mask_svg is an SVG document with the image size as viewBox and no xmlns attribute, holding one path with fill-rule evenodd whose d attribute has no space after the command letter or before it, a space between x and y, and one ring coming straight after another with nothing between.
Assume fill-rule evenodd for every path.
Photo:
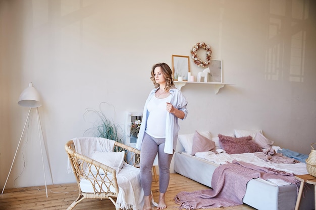
<instances>
[{"instance_id":1,"label":"white throw draped over the backrest of the rattan armchair","mask_svg":"<svg viewBox=\"0 0 316 210\"><path fill-rule=\"evenodd\" d=\"M102 137L79 137L72 139L76 152L86 157L91 157L95 151L113 152L114 140ZM71 173L72 167L68 159L67 172Z\"/></svg>"}]
</instances>

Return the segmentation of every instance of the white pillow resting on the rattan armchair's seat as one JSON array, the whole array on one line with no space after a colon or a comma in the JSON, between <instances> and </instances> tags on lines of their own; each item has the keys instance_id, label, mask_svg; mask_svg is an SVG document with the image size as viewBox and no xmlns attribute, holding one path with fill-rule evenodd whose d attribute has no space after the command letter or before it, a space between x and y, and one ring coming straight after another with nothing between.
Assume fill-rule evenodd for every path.
<instances>
[{"instance_id":1,"label":"white pillow resting on the rattan armchair's seat","mask_svg":"<svg viewBox=\"0 0 316 210\"><path fill-rule=\"evenodd\" d=\"M118 174L120 170L123 168L124 156L125 156L124 151L123 152L109 152L109 153L107 152L102 153L102 152L95 151L92 154L91 159L115 169L116 174ZM102 170L100 170L99 173L101 171ZM97 173L96 168L91 167L91 172L93 174L96 174Z\"/></svg>"}]
</instances>

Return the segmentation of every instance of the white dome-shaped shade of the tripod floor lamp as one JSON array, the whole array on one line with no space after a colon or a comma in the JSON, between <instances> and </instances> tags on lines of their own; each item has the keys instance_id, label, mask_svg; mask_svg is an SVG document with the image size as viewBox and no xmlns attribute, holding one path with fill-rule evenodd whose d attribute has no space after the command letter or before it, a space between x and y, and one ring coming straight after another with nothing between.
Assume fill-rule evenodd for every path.
<instances>
[{"instance_id":1,"label":"white dome-shaped shade of the tripod floor lamp","mask_svg":"<svg viewBox=\"0 0 316 210\"><path fill-rule=\"evenodd\" d=\"M39 93L34 88L33 83L30 83L29 87L21 93L18 104L29 108L36 108L42 105Z\"/></svg>"}]
</instances>

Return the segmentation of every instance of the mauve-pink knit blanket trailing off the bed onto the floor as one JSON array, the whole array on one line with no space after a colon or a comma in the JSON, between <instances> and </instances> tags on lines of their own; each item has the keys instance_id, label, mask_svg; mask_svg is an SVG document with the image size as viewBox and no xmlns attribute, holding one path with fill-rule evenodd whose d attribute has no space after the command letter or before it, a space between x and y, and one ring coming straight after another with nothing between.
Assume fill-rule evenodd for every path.
<instances>
[{"instance_id":1,"label":"mauve-pink knit blanket trailing off the bed onto the floor","mask_svg":"<svg viewBox=\"0 0 316 210\"><path fill-rule=\"evenodd\" d=\"M174 200L179 209L218 208L241 205L248 181L255 178L282 179L299 187L294 174L276 169L238 162L217 167L212 178L212 188L193 192L179 192Z\"/></svg>"}]
</instances>

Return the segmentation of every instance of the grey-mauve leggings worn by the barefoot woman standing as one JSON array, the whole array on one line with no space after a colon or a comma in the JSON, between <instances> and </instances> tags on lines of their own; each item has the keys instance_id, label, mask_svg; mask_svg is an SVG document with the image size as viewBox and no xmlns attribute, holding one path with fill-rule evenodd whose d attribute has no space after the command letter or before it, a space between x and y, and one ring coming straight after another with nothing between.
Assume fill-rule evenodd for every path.
<instances>
[{"instance_id":1,"label":"grey-mauve leggings worn by the barefoot woman standing","mask_svg":"<svg viewBox=\"0 0 316 210\"><path fill-rule=\"evenodd\" d=\"M151 168L153 161L158 153L159 162L159 191L165 193L167 191L170 179L170 163L173 154L164 152L165 138L154 138L144 134L143 142L140 150L140 181L145 196L151 193Z\"/></svg>"}]
</instances>

